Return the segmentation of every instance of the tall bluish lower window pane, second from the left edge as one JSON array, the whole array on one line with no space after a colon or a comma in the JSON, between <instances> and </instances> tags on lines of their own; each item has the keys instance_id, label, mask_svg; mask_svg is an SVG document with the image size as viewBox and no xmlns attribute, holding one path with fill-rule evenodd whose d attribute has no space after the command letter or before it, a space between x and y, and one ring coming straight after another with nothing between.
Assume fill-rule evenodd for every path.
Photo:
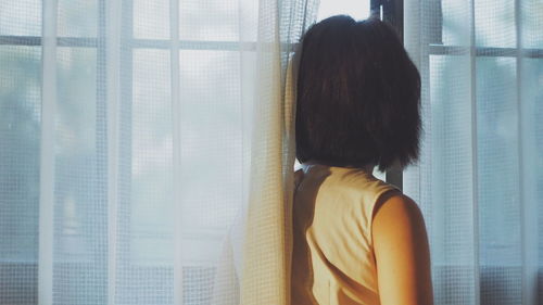
<instances>
[{"instance_id":1,"label":"tall bluish lower window pane, second from the left edge","mask_svg":"<svg viewBox=\"0 0 543 305\"><path fill-rule=\"evenodd\" d=\"M106 297L106 141L97 107L97 51L56 49L54 262L55 304Z\"/></svg>"}]
</instances>

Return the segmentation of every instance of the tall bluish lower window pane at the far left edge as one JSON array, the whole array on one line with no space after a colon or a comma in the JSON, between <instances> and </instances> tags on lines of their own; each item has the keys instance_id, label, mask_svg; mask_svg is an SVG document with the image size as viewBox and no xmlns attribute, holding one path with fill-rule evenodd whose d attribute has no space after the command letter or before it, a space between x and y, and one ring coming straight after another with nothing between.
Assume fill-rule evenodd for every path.
<instances>
[{"instance_id":1,"label":"tall bluish lower window pane at the far left edge","mask_svg":"<svg viewBox=\"0 0 543 305\"><path fill-rule=\"evenodd\" d=\"M0 46L0 304L36 304L41 48Z\"/></svg>"}]
</instances>

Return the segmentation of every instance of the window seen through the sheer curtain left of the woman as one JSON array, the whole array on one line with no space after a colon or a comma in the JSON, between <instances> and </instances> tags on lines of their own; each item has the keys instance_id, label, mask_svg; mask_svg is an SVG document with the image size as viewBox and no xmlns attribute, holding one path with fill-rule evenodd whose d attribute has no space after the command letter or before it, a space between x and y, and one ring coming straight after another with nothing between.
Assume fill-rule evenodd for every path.
<instances>
[{"instance_id":1,"label":"window seen through the sheer curtain left of the woman","mask_svg":"<svg viewBox=\"0 0 543 305\"><path fill-rule=\"evenodd\" d=\"M36 304L38 297L41 5L39 0L0 3L0 303ZM239 189L232 183L241 179L237 149L243 136L231 136L241 122L239 84L232 80L232 75L241 73L233 8L222 1L192 1L181 2L179 10L180 90L192 94L193 102L185 104L192 114L206 114L204 123L194 120L203 115L186 116L182 126L182 137L194 137L194 128L199 128L200 137L206 139L194 139L193 147L181 150L190 164L185 168L194 177L184 194L194 209L187 208L182 219L187 304L209 301L210 293L202 291L201 283L213 279L210 262L216 259L224 227L231 223L241 201L241 193L231 194L232 189ZM168 216L174 186L166 170L173 162L172 134L166 128L172 124L169 1L123 1L118 136L123 157L118 161L108 160L106 2L59 0L56 14L56 75L50 77L56 77L59 110L52 148L55 183L51 187L53 251L60 262L54 264L54 274L62 280L55 281L55 289L74 291L74 295L62 296L67 304L104 303L108 297L108 163L117 162L118 211L129 214L128 221L123 219L117 227L118 272L130 279L118 287L118 294L146 304L167 304L171 300L163 292L172 290L167 285L173 284L173 264L165 262L173 256L175 226ZM256 27L242 35L254 40ZM211 69L214 77L204 74ZM195 71L203 73L194 77ZM217 97L202 90L215 84L222 86L217 90L222 92L220 104L213 102ZM217 134L218 127L224 132ZM214 141L226 149L215 150L210 145ZM211 169L225 157L231 170L216 173L216 180L202 180L201 168ZM202 167L204 164L207 166ZM216 186L213 192L202 190L209 185ZM220 194L225 194L222 206L206 206ZM81 274L91 276L83 278ZM13 278L20 282L13 283ZM89 298L78 298L81 293Z\"/></svg>"}]
</instances>

